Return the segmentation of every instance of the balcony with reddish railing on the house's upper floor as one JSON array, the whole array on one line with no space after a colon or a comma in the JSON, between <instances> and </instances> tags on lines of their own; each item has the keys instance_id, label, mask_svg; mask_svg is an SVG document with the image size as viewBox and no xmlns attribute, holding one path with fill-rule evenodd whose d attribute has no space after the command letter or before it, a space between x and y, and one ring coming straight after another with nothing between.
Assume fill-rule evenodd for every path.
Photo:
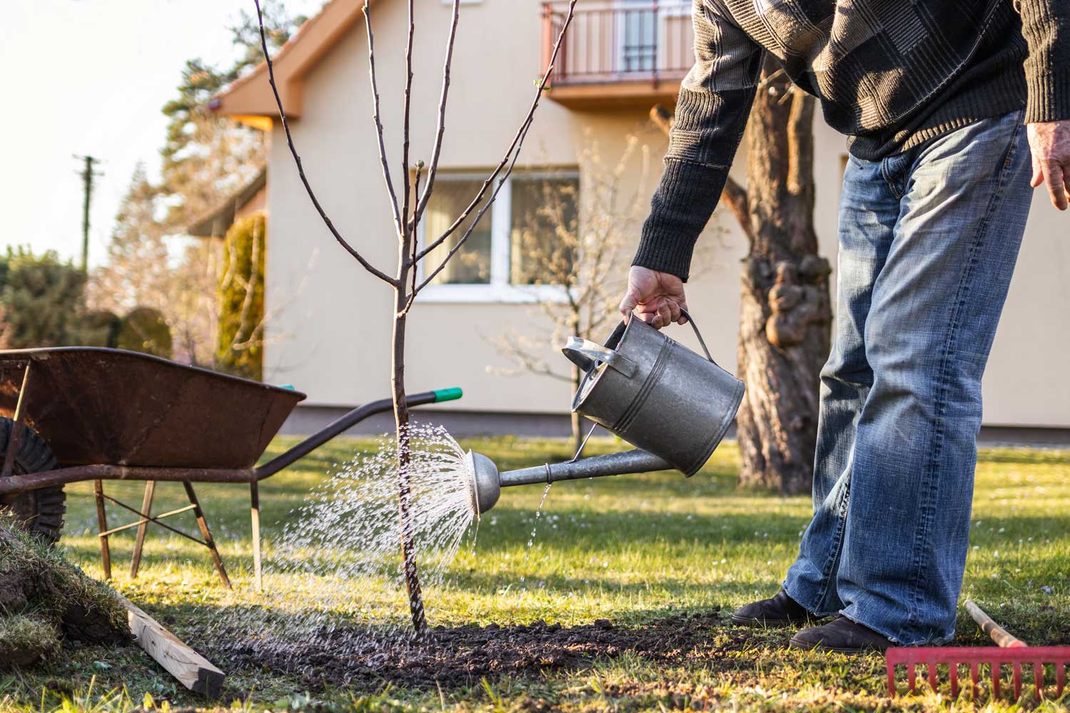
<instances>
[{"instance_id":1,"label":"balcony with reddish railing on the house's upper floor","mask_svg":"<svg viewBox=\"0 0 1070 713\"><path fill-rule=\"evenodd\" d=\"M567 2L542 4L542 66L567 16ZM694 63L688 0L597 0L577 7L548 97L571 109L673 104Z\"/></svg>"}]
</instances>

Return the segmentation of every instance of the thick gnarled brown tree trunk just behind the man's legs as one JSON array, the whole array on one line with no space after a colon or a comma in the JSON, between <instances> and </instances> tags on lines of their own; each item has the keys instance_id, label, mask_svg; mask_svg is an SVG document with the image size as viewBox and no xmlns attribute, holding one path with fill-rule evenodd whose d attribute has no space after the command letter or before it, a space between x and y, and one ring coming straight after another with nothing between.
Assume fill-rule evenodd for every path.
<instances>
[{"instance_id":1,"label":"thick gnarled brown tree trunk just behind the man's legs","mask_svg":"<svg viewBox=\"0 0 1070 713\"><path fill-rule=\"evenodd\" d=\"M813 480L828 262L813 229L813 97L767 63L748 125L750 249L740 284L737 417L743 484L806 493ZM734 189L734 196L733 196ZM725 191L733 205L738 186ZM735 211L739 215L738 211Z\"/></svg>"}]
</instances>

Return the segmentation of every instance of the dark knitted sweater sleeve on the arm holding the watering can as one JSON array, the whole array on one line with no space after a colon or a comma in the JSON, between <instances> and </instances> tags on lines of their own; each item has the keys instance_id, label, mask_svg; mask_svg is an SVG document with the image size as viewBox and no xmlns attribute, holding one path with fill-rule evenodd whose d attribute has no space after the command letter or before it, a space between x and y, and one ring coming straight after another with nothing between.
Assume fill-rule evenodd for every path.
<instances>
[{"instance_id":1,"label":"dark knitted sweater sleeve on the arm holding the watering can","mask_svg":"<svg viewBox=\"0 0 1070 713\"><path fill-rule=\"evenodd\" d=\"M715 0L694 0L694 66L681 83L664 173L631 263L683 280L699 233L720 200L764 58L718 7Z\"/></svg>"}]
</instances>

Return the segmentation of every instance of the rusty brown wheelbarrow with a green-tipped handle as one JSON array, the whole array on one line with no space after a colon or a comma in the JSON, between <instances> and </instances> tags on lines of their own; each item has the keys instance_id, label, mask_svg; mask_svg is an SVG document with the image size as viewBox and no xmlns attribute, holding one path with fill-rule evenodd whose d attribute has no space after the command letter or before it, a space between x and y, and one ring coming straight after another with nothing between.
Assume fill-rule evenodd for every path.
<instances>
[{"instance_id":1,"label":"rusty brown wheelbarrow with a green-tipped handle","mask_svg":"<svg viewBox=\"0 0 1070 713\"><path fill-rule=\"evenodd\" d=\"M409 406L461 398L458 388L410 394ZM372 401L257 466L268 444L305 394L123 350L71 346L0 351L0 507L52 542L65 512L63 486L93 481L101 557L111 576L108 537L137 527L131 575L137 576L149 523L208 547L220 579L230 582L193 483L246 483L253 560L262 586L259 483L352 425L391 410ZM105 480L146 481L140 509L109 497ZM189 505L152 515L155 483L181 482ZM138 515L109 529L106 502ZM201 538L162 522L193 511Z\"/></svg>"}]
</instances>

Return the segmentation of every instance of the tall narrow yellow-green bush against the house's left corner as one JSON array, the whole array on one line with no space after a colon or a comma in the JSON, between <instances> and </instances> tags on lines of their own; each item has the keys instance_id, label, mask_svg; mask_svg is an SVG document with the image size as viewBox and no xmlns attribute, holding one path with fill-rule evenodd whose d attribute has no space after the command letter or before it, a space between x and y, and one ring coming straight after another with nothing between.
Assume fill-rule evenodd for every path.
<instances>
[{"instance_id":1,"label":"tall narrow yellow-green bush against the house's left corner","mask_svg":"<svg viewBox=\"0 0 1070 713\"><path fill-rule=\"evenodd\" d=\"M219 279L220 371L260 381L263 377L264 252L268 220L263 213L240 218L224 241Z\"/></svg>"}]
</instances>

